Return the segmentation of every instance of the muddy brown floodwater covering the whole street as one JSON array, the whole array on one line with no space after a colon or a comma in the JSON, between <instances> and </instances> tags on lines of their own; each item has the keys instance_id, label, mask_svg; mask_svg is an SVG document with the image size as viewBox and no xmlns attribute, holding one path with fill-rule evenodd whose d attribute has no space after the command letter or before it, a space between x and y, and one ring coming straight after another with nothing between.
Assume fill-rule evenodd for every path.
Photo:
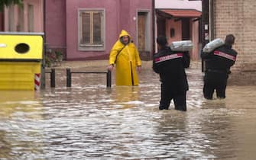
<instances>
[{"instance_id":1,"label":"muddy brown floodwater covering the whole street","mask_svg":"<svg viewBox=\"0 0 256 160\"><path fill-rule=\"evenodd\" d=\"M158 110L150 67L137 87L105 75L66 75L41 91L0 91L0 159L255 159L256 86L203 99L203 73L186 70L187 111Z\"/></svg>"}]
</instances>

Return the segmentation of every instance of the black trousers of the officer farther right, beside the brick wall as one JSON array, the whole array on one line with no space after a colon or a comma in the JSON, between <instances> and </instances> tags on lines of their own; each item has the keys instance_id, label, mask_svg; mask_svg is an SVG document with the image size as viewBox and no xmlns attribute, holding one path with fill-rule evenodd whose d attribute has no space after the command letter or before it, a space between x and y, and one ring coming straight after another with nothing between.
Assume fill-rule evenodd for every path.
<instances>
[{"instance_id":1,"label":"black trousers of the officer farther right, beside the brick wall","mask_svg":"<svg viewBox=\"0 0 256 160\"><path fill-rule=\"evenodd\" d=\"M212 99L214 91L217 98L225 98L225 89L228 82L228 73L225 72L206 72L203 85L203 96Z\"/></svg>"}]
</instances>

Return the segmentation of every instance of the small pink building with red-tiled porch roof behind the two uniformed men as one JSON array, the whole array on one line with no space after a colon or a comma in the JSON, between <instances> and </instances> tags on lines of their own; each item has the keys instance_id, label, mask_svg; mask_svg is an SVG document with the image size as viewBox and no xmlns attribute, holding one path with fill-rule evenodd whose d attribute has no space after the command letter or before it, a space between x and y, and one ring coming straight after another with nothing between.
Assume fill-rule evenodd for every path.
<instances>
[{"instance_id":1,"label":"small pink building with red-tiled porch roof behind the two uniformed men","mask_svg":"<svg viewBox=\"0 0 256 160\"><path fill-rule=\"evenodd\" d=\"M155 0L155 26L157 35L164 35L168 43L192 40L191 59L199 60L201 50L201 2L188 0Z\"/></svg>"}]
</instances>

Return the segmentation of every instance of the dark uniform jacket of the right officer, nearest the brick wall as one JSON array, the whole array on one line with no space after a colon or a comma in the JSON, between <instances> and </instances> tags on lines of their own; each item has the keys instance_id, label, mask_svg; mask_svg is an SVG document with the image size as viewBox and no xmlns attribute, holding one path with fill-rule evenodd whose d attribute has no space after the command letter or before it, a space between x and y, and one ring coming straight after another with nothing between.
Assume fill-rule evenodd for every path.
<instances>
[{"instance_id":1,"label":"dark uniform jacket of the right officer, nearest the brick wall","mask_svg":"<svg viewBox=\"0 0 256 160\"><path fill-rule=\"evenodd\" d=\"M230 67L235 64L237 52L232 46L219 46L211 53L201 53L201 58L206 62L206 72L219 72L228 74Z\"/></svg>"}]
</instances>

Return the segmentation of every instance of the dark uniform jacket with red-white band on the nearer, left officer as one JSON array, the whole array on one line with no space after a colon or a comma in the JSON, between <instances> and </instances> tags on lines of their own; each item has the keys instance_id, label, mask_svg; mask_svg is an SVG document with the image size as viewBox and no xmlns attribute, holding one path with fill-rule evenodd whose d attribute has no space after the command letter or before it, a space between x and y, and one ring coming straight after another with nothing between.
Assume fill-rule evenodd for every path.
<instances>
[{"instance_id":1,"label":"dark uniform jacket with red-white band on the nearer, left officer","mask_svg":"<svg viewBox=\"0 0 256 160\"><path fill-rule=\"evenodd\" d=\"M153 57L153 70L160 75L160 81L171 93L184 93L189 89L184 68L190 66L188 52L172 51L166 46Z\"/></svg>"}]
</instances>

